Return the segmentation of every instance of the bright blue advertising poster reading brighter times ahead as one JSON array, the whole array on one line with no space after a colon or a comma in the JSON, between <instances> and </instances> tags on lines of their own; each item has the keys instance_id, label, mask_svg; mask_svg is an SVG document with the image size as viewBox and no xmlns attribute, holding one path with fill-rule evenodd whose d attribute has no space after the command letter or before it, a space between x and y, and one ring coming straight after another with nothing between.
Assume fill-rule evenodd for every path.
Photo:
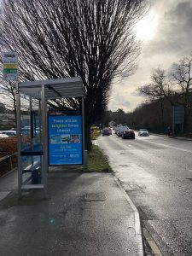
<instances>
[{"instance_id":1,"label":"bright blue advertising poster reading brighter times ahead","mask_svg":"<svg viewBox=\"0 0 192 256\"><path fill-rule=\"evenodd\" d=\"M81 116L49 116L49 165L83 165Z\"/></svg>"}]
</instances>

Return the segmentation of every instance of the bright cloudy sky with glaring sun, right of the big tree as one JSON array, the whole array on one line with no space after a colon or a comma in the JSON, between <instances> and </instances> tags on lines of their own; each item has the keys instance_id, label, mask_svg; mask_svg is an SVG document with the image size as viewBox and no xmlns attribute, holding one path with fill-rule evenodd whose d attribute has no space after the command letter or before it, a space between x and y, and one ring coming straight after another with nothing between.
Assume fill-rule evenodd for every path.
<instances>
[{"instance_id":1,"label":"bright cloudy sky with glaring sun, right of the big tree","mask_svg":"<svg viewBox=\"0 0 192 256\"><path fill-rule=\"evenodd\" d=\"M137 27L142 40L137 70L113 84L108 109L131 112L145 101L138 86L149 84L155 68L166 71L192 51L192 0L150 0L146 17Z\"/></svg>"}]
</instances>

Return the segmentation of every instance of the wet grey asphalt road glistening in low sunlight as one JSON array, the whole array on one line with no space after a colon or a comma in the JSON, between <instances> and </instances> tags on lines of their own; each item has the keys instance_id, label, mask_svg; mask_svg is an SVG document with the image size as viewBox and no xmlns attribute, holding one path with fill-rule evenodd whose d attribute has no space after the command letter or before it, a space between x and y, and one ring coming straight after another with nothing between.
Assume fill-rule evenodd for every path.
<instances>
[{"instance_id":1,"label":"wet grey asphalt road glistening in low sunlight","mask_svg":"<svg viewBox=\"0 0 192 256\"><path fill-rule=\"evenodd\" d=\"M116 177L165 256L192 255L192 141L98 137Z\"/></svg>"}]
</instances>

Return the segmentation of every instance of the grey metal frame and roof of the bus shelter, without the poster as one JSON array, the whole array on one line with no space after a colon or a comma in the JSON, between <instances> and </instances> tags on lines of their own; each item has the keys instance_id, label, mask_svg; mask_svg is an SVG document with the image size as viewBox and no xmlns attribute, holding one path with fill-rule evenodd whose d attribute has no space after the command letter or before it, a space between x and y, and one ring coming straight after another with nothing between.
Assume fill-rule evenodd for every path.
<instances>
[{"instance_id":1,"label":"grey metal frame and roof of the bus shelter, without the poster","mask_svg":"<svg viewBox=\"0 0 192 256\"><path fill-rule=\"evenodd\" d=\"M32 111L32 99L38 101L38 110L41 112L41 148L36 150L31 146L31 151L23 150L22 133L21 133L21 108L23 108L20 98L21 95L26 96L29 102L29 110ZM30 82L20 82L16 86L16 106L17 106L17 138L18 138L18 189L19 196L22 190L26 189L44 189L44 195L47 195L47 172L48 172L48 111L47 102L52 99L61 99L69 97L82 98L82 148L83 148L83 168L84 168L84 89L81 78L67 78L67 79L47 79ZM31 129L32 130L32 129ZM30 156L29 156L30 155ZM30 177L27 177L25 182L22 180L23 170L22 158L30 157L32 163L29 168L36 168L35 157L40 159L40 166L42 181L41 183L31 183ZM31 170L32 171L32 170Z\"/></svg>"}]
</instances>

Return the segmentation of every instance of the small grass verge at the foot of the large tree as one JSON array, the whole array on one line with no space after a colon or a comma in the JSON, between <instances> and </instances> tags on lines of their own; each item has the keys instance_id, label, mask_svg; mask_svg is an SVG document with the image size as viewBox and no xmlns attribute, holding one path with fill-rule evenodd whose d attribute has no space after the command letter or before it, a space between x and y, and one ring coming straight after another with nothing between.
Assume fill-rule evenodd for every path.
<instances>
[{"instance_id":1,"label":"small grass verge at the foot of the large tree","mask_svg":"<svg viewBox=\"0 0 192 256\"><path fill-rule=\"evenodd\" d=\"M92 145L90 152L88 152L87 172L112 172L107 157L96 145Z\"/></svg>"}]
</instances>

